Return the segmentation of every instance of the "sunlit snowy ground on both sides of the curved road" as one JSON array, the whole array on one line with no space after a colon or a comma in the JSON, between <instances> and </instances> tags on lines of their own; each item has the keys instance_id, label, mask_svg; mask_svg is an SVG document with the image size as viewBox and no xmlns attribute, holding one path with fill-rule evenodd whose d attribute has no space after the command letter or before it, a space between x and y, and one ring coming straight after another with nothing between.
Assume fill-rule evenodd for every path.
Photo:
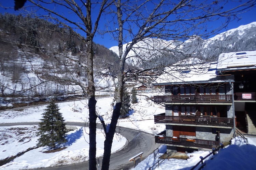
<instances>
[{"instance_id":1,"label":"sunlit snowy ground on both sides of the curved road","mask_svg":"<svg viewBox=\"0 0 256 170\"><path fill-rule=\"evenodd\" d=\"M154 114L163 113L164 108L155 105L152 101L146 101L144 98L146 97L143 96L139 98L141 102L133 105L133 115L129 119L120 119L118 125L138 130L147 127L147 132L152 134L158 133L157 130L160 129L162 131L165 126L161 126L161 128L159 128L159 125L154 124ZM96 111L98 112L99 117L104 119L106 124L110 123L111 121L109 117L112 114L112 99L113 98L111 97L101 97L97 99ZM62 113L62 116L66 122L88 122L87 103L87 100L58 103L60 108L59 112ZM45 108L46 105L40 105L1 111L0 123L39 122ZM145 122L143 122L143 120L145 120ZM97 119L97 121L97 123L100 123L100 119ZM138 121L143 123L139 125ZM14 156L28 148L35 147L38 139L36 136L37 128L37 125L0 126L0 159ZM88 128L84 129L83 127L79 126L76 126L76 128L76 130L68 132L66 137L68 142L62 146L67 147L66 149L54 153L44 153L44 151L49 150L47 147L33 149L26 152L22 156L15 158L12 162L1 166L0 169L16 170L40 168L75 164L87 161L89 152ZM122 149L126 142L126 139L122 136L114 137L112 153ZM97 134L96 156L102 156L103 151L104 134L103 130L99 129Z\"/></svg>"}]
</instances>

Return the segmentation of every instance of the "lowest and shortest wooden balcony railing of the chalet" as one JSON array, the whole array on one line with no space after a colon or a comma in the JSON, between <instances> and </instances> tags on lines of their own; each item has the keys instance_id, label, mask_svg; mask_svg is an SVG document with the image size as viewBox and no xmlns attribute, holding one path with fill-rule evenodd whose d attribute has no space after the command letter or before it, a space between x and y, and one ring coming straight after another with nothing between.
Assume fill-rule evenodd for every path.
<instances>
[{"instance_id":1,"label":"lowest and shortest wooden balcony railing of the chalet","mask_svg":"<svg viewBox=\"0 0 256 170\"><path fill-rule=\"evenodd\" d=\"M155 136L156 143L181 145L186 147L209 148L219 146L219 141L202 140L202 139L188 139L188 138L173 138L168 136Z\"/></svg>"}]
</instances>

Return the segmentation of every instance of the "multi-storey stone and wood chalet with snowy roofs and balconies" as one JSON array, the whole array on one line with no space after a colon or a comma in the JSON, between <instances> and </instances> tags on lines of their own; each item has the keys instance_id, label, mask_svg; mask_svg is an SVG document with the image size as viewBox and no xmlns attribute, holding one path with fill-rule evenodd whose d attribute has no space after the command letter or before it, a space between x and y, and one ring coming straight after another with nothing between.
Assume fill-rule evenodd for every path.
<instances>
[{"instance_id":1,"label":"multi-storey stone and wood chalet with snowy roofs and balconies","mask_svg":"<svg viewBox=\"0 0 256 170\"><path fill-rule=\"evenodd\" d=\"M192 152L230 141L238 122L248 132L246 113L256 114L255 55L256 51L224 53L216 63L187 61L166 68L154 84L164 86L164 94L154 96L154 101L166 108L154 116L155 123L166 125L155 135L156 143L166 145L167 152Z\"/></svg>"}]
</instances>

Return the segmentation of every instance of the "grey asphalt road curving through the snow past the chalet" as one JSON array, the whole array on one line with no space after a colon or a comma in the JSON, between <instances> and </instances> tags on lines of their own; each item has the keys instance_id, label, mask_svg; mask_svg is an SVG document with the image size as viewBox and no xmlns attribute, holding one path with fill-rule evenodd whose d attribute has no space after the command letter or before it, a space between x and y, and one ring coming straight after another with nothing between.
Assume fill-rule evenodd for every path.
<instances>
[{"instance_id":1,"label":"grey asphalt road curving through the snow past the chalet","mask_svg":"<svg viewBox=\"0 0 256 170\"><path fill-rule=\"evenodd\" d=\"M38 122L26 122L26 123L0 123L0 126L14 126L14 125L33 125ZM77 122L66 122L67 125L84 126L84 123ZM101 129L101 125L98 124L98 128ZM129 162L129 159L140 152L143 152L142 157L146 158L148 155L153 153L153 151L160 145L155 143L154 135L148 134L142 131L117 127L117 132L120 132L126 137L128 144L122 150L111 154L110 157L110 167L111 170L128 170L133 167L133 162ZM97 162L98 163L98 162ZM101 166L102 158L99 159ZM51 168L43 168L46 170L87 170L89 169L88 162L71 164L66 166L57 166ZM101 169L101 168L100 168Z\"/></svg>"}]
</instances>

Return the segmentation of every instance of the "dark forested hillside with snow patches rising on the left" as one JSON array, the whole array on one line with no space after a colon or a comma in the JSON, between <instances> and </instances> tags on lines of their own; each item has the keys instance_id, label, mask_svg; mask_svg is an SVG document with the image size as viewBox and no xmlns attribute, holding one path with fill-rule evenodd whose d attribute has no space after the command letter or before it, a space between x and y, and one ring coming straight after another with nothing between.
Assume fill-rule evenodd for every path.
<instances>
[{"instance_id":1,"label":"dark forested hillside with snow patches rising on the left","mask_svg":"<svg viewBox=\"0 0 256 170\"><path fill-rule=\"evenodd\" d=\"M114 76L118 56L99 44L93 49L95 77ZM72 29L39 18L0 14L0 98L81 90L76 87L87 83L86 61L85 43Z\"/></svg>"}]
</instances>

